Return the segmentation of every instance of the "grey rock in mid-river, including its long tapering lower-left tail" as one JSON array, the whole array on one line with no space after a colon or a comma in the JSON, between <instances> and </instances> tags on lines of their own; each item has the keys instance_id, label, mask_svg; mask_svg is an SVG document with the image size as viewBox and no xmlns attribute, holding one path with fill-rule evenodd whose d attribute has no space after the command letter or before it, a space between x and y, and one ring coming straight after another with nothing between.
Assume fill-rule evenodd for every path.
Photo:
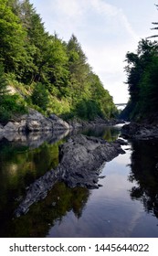
<instances>
[{"instance_id":1,"label":"grey rock in mid-river, including its long tapering lower-left tail","mask_svg":"<svg viewBox=\"0 0 158 256\"><path fill-rule=\"evenodd\" d=\"M47 196L47 192L58 181L68 187L99 188L101 167L119 154L124 141L108 143L103 139L84 135L73 136L59 147L59 165L56 170L47 172L37 179L28 189L25 199L16 209L16 217L25 214L29 207Z\"/></svg>"}]
</instances>

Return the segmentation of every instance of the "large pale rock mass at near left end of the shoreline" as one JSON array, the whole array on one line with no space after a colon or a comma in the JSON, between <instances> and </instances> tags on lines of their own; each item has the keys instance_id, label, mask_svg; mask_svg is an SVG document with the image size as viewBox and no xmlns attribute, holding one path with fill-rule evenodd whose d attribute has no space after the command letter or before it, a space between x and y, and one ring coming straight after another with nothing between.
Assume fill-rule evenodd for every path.
<instances>
[{"instance_id":1,"label":"large pale rock mass at near left end of the shoreline","mask_svg":"<svg viewBox=\"0 0 158 256\"><path fill-rule=\"evenodd\" d=\"M68 130L68 123L58 118L55 114L51 114L49 118L40 112L30 109L27 114L16 117L12 122L8 122L5 126L0 126L1 135L16 132L46 132Z\"/></svg>"}]
</instances>

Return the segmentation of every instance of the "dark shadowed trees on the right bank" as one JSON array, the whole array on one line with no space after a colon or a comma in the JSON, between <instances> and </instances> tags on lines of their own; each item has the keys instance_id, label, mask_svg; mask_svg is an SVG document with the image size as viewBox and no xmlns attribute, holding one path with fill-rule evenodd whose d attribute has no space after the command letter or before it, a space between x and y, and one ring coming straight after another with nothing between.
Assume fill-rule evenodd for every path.
<instances>
[{"instance_id":1,"label":"dark shadowed trees on the right bank","mask_svg":"<svg viewBox=\"0 0 158 256\"><path fill-rule=\"evenodd\" d=\"M153 22L153 25L158 23ZM142 39L136 52L126 54L125 61L130 100L121 118L137 122L158 121L158 42L152 37Z\"/></svg>"}]
</instances>

